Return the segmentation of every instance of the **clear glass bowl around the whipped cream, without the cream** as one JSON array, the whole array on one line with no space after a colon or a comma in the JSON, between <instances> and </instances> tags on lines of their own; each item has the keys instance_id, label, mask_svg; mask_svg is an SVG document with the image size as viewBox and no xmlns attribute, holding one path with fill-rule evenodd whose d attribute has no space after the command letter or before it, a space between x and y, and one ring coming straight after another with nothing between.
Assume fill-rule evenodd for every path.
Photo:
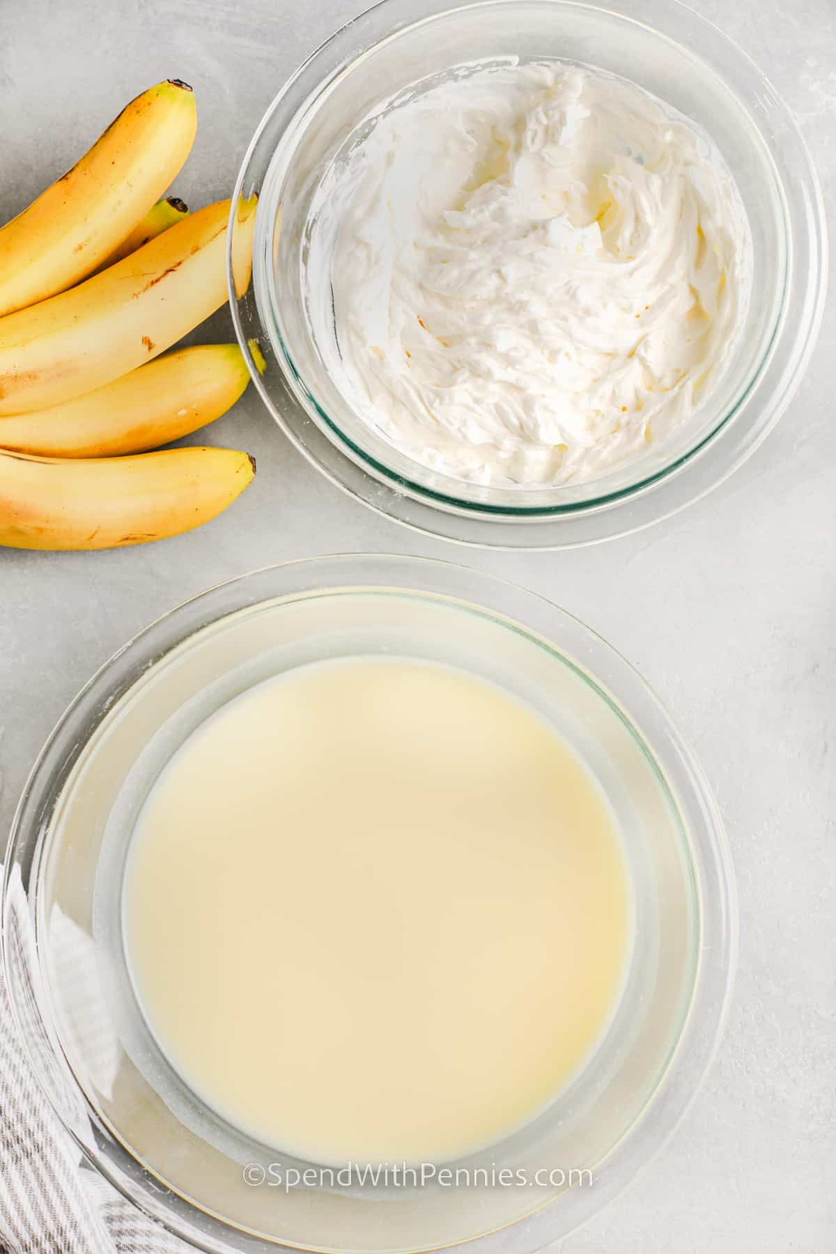
<instances>
[{"instance_id":1,"label":"clear glass bowl around the whipped cream, without the cream","mask_svg":"<svg viewBox=\"0 0 836 1254\"><path fill-rule=\"evenodd\" d=\"M668 440L587 484L484 488L420 466L352 410L325 369L306 311L311 201L357 123L409 83L509 54L615 73L678 109L713 138L751 223L752 297L728 369ZM316 466L367 505L468 544L585 544L696 500L786 409L821 319L823 206L801 134L745 53L677 0L384 0L323 44L276 97L234 202L252 193L259 197L253 282L241 297L231 287L231 302L271 414Z\"/></svg>"}]
</instances>

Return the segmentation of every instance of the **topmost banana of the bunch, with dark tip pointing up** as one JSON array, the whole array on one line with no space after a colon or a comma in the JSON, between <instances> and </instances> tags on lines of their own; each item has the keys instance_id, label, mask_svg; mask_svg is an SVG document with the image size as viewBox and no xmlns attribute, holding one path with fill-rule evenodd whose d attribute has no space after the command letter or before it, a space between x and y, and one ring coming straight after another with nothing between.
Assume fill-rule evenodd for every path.
<instances>
[{"instance_id":1,"label":"topmost banana of the bunch, with dark tip pointing up","mask_svg":"<svg viewBox=\"0 0 836 1254\"><path fill-rule=\"evenodd\" d=\"M130 234L189 154L192 88L158 83L93 148L0 229L0 315L71 287Z\"/></svg>"}]
</instances>

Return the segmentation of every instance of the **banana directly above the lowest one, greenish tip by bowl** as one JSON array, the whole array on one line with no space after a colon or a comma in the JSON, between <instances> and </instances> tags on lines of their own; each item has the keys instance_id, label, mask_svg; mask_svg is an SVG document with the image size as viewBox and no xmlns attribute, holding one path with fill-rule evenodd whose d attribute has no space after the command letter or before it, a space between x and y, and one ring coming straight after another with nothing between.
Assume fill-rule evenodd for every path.
<instances>
[{"instance_id":1,"label":"banana directly above the lowest one, greenish tip by bowl","mask_svg":"<svg viewBox=\"0 0 836 1254\"><path fill-rule=\"evenodd\" d=\"M158 449L214 421L248 382L237 344L175 349L86 396L0 418L0 449L51 458Z\"/></svg>"}]
</instances>

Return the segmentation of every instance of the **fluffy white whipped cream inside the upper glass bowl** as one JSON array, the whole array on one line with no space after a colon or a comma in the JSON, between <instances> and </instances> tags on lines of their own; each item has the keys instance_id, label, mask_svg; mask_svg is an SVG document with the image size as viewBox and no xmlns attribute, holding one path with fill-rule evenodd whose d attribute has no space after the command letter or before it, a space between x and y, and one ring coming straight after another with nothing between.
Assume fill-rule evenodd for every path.
<instances>
[{"instance_id":1,"label":"fluffy white whipped cream inside the upper glass bowl","mask_svg":"<svg viewBox=\"0 0 836 1254\"><path fill-rule=\"evenodd\" d=\"M358 135L315 196L305 282L330 287L312 329L379 434L430 470L530 488L688 421L751 272L703 133L625 80L511 60L419 84Z\"/></svg>"}]
</instances>

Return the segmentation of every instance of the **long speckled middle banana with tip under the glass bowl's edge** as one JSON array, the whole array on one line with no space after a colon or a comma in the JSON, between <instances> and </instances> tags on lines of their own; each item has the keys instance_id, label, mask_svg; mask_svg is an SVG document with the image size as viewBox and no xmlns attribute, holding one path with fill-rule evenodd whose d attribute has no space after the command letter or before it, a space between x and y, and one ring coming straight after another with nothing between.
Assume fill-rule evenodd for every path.
<instances>
[{"instance_id":1,"label":"long speckled middle banana with tip under the glass bowl's edge","mask_svg":"<svg viewBox=\"0 0 836 1254\"><path fill-rule=\"evenodd\" d=\"M232 270L249 283L256 198L236 211ZM175 344L227 300L229 201L169 227L69 292L0 319L0 414L94 391Z\"/></svg>"}]
</instances>

